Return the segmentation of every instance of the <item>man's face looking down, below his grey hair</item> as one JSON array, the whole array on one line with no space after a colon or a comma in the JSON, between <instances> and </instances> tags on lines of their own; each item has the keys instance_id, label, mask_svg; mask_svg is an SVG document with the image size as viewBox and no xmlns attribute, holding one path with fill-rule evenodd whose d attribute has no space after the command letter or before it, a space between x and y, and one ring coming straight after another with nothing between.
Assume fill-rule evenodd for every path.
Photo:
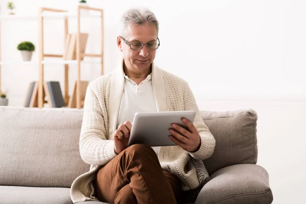
<instances>
[{"instance_id":1,"label":"man's face looking down, below his grey hair","mask_svg":"<svg viewBox=\"0 0 306 204\"><path fill-rule=\"evenodd\" d=\"M157 30L152 24L128 25L125 29L125 36L122 37L130 44L157 43ZM147 69L155 59L156 49L148 50L143 45L140 50L133 50L120 37L117 38L117 44L122 51L125 65L134 70Z\"/></svg>"}]
</instances>

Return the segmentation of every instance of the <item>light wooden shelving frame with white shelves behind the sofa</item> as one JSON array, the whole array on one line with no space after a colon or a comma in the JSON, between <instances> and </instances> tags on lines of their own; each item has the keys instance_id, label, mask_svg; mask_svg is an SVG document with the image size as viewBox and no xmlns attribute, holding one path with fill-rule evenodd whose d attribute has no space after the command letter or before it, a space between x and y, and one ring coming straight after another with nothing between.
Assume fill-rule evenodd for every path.
<instances>
[{"instance_id":1,"label":"light wooden shelving frame with white shelves behind the sofa","mask_svg":"<svg viewBox=\"0 0 306 204\"><path fill-rule=\"evenodd\" d=\"M44 94L43 94L43 81L44 81L44 71L43 71L43 66L42 65L51 65L50 67L52 67L52 65L66 65L64 66L65 68L63 69L64 71L64 99L65 99L65 103L67 103L67 99L69 98L68 95L68 90L69 90L69 78L68 78L68 74L69 74L69 65L73 65L73 67L77 67L77 82L80 83L81 82L81 64L88 64L88 65L92 65L92 64L97 64L98 66L101 67L101 75L104 74L104 63L102 63L104 61L104 57L103 57L103 53L104 53L104 23L103 23L103 9L99 9L99 8L93 8L93 7L87 7L85 5L75 5L76 8L74 8L74 13L72 13L71 11L66 11L66 10L60 10L60 9L53 9L53 8L45 8L45 7L40 7L39 12L38 13L18 13L15 15L0 15L0 22L15 22L15 21L31 21L32 22L36 22L39 29L38 29L38 44L41 46L39 47L38 50L38 57L39 58L32 58L32 61L27 61L24 62L22 61L22 59L18 58L18 60L14 60L11 59L12 61L0 61L0 65L5 65L5 66L26 66L26 65L32 65L33 67L38 67L38 71L39 71L39 88L38 88L38 107L41 109L44 107L45 104L45 100L44 100ZM73 9L73 8L72 8ZM69 8L69 10L71 10L71 8ZM68 28L69 28L69 21L70 19L72 21L77 21L77 35L81 35L81 29L80 29L80 25L81 25L81 21L82 19L87 20L86 22L88 22L89 20L93 20L93 18L95 19L100 19L101 23L99 23L100 28L101 28L101 54L84 54L80 49L78 50L79 55L77 55L78 57L80 57L79 59L83 59L84 60L80 61L81 63L79 64L77 60L63 60L63 56L64 55L58 55L58 54L44 54L43 51L43 43L44 43L44 38L43 38L43 28L44 28L44 22L45 20L59 20L59 21L64 21L64 37L66 39L67 35L68 35ZM43 19L43 20L41 20ZM94 19L94 20L95 20ZM75 23L73 23L75 24ZM82 23L83 24L83 23ZM65 40L66 41L66 40ZM65 42L65 47L67 46L66 42ZM67 48L67 47L66 47ZM75 47L74 47L75 49ZM74 50L74 52L77 54L77 51ZM45 57L47 58L46 60ZM92 59L95 58L95 59ZM16 58L17 59L17 58ZM0 85L1 85L1 79L0 79ZM77 108L80 109L83 105L82 105L82 100L80 98L80 91L81 91L81 87L78 86L77 89L75 89L77 92ZM1 93L1 87L0 87L0 93Z\"/></svg>"}]
</instances>

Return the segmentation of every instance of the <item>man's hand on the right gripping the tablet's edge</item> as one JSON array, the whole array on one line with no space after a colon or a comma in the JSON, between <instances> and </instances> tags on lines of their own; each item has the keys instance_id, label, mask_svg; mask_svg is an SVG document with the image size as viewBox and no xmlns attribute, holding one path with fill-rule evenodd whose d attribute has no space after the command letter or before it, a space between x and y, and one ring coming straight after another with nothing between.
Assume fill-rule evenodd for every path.
<instances>
[{"instance_id":1,"label":"man's hand on the right gripping the tablet's edge","mask_svg":"<svg viewBox=\"0 0 306 204\"><path fill-rule=\"evenodd\" d=\"M169 130L169 138L177 145L181 146L184 150L189 152L195 152L200 148L201 139L199 132L195 126L188 119L183 118L183 123L188 127L188 130L184 127L173 123Z\"/></svg>"}]
</instances>

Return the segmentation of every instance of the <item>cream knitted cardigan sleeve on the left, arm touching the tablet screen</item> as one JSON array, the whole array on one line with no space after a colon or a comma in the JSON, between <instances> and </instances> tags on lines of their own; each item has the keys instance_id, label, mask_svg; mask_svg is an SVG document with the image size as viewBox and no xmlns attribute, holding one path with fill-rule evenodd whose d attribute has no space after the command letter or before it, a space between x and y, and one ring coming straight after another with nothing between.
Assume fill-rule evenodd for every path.
<instances>
[{"instance_id":1,"label":"cream knitted cardigan sleeve on the left, arm touching the tablet screen","mask_svg":"<svg viewBox=\"0 0 306 204\"><path fill-rule=\"evenodd\" d=\"M80 154L84 162L105 165L116 156L114 141L107 140L106 134L103 111L96 94L89 85L85 96L80 136Z\"/></svg>"}]
</instances>

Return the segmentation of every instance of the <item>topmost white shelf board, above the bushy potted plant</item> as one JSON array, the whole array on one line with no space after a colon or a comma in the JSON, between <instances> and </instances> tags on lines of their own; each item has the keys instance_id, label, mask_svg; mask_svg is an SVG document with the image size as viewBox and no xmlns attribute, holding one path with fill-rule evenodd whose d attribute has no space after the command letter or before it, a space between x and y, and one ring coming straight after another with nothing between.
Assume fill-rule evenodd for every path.
<instances>
[{"instance_id":1,"label":"topmost white shelf board, above the bushy potted plant","mask_svg":"<svg viewBox=\"0 0 306 204\"><path fill-rule=\"evenodd\" d=\"M58 13L51 13L51 12L45 12L42 14L44 19L54 19L59 18L62 19L64 17L67 18L75 18L77 19L78 15L76 13L69 13L69 12L58 12ZM81 11L82 18L100 18L100 13L90 13L90 14L83 14L83 11ZM38 20L39 15L22 15L22 14L15 14L15 15L0 15L0 21L2 20Z\"/></svg>"}]
</instances>

